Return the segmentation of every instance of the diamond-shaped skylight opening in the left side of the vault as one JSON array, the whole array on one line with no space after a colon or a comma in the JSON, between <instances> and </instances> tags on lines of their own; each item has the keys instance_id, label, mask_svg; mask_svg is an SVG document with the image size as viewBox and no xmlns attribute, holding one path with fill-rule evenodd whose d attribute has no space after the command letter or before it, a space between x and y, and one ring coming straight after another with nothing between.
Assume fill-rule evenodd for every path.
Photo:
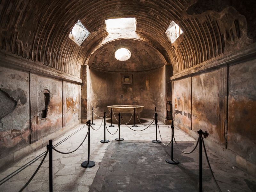
<instances>
[{"instance_id":1,"label":"diamond-shaped skylight opening in the left side of the vault","mask_svg":"<svg viewBox=\"0 0 256 192\"><path fill-rule=\"evenodd\" d=\"M84 27L81 21L78 20L75 26L70 31L69 38L76 44L81 46L81 44L90 34L91 33Z\"/></svg>"}]
</instances>

